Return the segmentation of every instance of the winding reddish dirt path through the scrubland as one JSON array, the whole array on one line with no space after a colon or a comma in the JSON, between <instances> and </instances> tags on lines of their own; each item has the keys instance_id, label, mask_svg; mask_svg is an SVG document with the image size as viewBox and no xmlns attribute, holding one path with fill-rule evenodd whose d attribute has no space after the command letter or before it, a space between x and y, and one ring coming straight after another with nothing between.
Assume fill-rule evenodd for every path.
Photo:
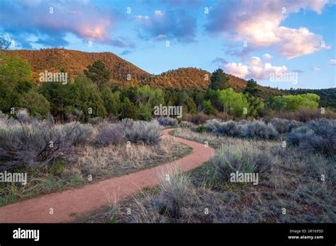
<instances>
[{"instance_id":1,"label":"winding reddish dirt path through the scrubland","mask_svg":"<svg viewBox=\"0 0 336 246\"><path fill-rule=\"evenodd\" d=\"M83 214L94 209L99 209L107 204L116 204L121 199L139 192L145 187L157 185L164 174L176 170L178 167L183 172L194 169L205 163L215 151L194 141L170 136L164 129L162 138L186 144L193 148L188 156L174 162L159 165L155 168L133 172L121 177L96 182L84 187L67 189L63 192L46 194L15 204L0 207L0 223L60 223L73 221L71 214ZM53 214L50 214L52 208Z\"/></svg>"}]
</instances>

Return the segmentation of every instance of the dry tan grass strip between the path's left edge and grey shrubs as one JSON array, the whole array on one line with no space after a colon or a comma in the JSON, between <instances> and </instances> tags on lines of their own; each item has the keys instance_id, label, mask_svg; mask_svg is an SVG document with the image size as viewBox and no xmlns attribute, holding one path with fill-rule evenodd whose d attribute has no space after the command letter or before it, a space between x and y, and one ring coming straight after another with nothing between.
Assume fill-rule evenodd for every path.
<instances>
[{"instance_id":1,"label":"dry tan grass strip between the path's left edge and grey shrubs","mask_svg":"<svg viewBox=\"0 0 336 246\"><path fill-rule=\"evenodd\" d=\"M27 185L0 183L0 205L151 168L185 156L190 151L188 146L166 139L155 146L80 147L74 156L65 161L53 163L44 170L28 170ZM88 175L92 175L93 181L89 181Z\"/></svg>"}]
</instances>

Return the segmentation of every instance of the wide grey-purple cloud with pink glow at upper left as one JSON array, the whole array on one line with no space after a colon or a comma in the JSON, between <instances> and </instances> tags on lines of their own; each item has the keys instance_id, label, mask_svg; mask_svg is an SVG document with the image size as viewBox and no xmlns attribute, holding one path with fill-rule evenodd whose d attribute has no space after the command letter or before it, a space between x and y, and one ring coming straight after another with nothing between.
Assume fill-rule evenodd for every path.
<instances>
[{"instance_id":1,"label":"wide grey-purple cloud with pink glow at upper left","mask_svg":"<svg viewBox=\"0 0 336 246\"><path fill-rule=\"evenodd\" d=\"M38 37L36 43L46 46L67 45L67 33L117 47L133 43L113 37L111 28L118 13L101 9L90 1L7 1L1 3L1 28L24 42L25 35ZM30 43L33 43L30 42Z\"/></svg>"}]
</instances>

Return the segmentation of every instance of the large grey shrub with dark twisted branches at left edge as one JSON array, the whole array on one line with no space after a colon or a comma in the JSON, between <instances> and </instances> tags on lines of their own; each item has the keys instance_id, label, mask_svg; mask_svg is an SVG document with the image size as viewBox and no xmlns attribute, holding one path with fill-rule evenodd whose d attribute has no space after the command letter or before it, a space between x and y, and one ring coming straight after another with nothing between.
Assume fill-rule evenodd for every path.
<instances>
[{"instance_id":1,"label":"large grey shrub with dark twisted branches at left edge","mask_svg":"<svg viewBox=\"0 0 336 246\"><path fill-rule=\"evenodd\" d=\"M28 123L23 115L18 115L20 122L11 119L0 129L1 170L19 166L43 167L72 152L73 134L78 124L62 128L50 120L31 119Z\"/></svg>"}]
</instances>

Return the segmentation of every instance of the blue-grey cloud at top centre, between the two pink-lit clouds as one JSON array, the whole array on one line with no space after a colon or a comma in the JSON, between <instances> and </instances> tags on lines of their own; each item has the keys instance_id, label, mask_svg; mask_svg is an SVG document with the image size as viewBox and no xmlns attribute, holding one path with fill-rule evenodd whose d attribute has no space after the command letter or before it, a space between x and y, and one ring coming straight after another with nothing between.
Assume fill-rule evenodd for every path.
<instances>
[{"instance_id":1,"label":"blue-grey cloud at top centre, between the two pink-lit clouds","mask_svg":"<svg viewBox=\"0 0 336 246\"><path fill-rule=\"evenodd\" d=\"M195 42L196 18L187 11L156 10L152 16L135 16L142 29L157 40L176 39L179 42Z\"/></svg>"}]
</instances>

